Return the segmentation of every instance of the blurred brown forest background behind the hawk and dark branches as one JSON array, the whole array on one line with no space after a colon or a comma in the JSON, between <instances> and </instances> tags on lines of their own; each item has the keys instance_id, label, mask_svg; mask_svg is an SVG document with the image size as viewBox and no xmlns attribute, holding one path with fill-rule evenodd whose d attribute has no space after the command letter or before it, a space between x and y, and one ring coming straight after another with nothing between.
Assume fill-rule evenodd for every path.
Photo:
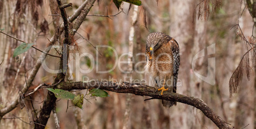
<instances>
[{"instance_id":1,"label":"blurred brown forest background behind the hawk and dark branches","mask_svg":"<svg viewBox=\"0 0 256 129\"><path fill-rule=\"evenodd\" d=\"M62 1L62 3L73 3L72 8L66 8L68 16L72 15L83 2L82 0ZM120 61L128 59L127 55L122 58L120 56L131 50L129 49L131 27L134 27L133 69L137 68L139 71L143 71L145 63L137 66L136 63L145 61L145 56L136 56L136 54L145 52L147 35L150 32L164 32L177 40L180 45L178 94L203 99L215 113L236 128L255 128L255 68L252 67L250 70L252 72L250 81L244 77L238 94L229 97L229 79L248 50L245 41L237 34L239 29L234 25L239 23L246 39L249 39L253 32L252 16L245 8L243 0L210 1L211 3L207 4L208 2L207 0L203 2L160 0L157 3L155 0L142 0L142 6L138 6L138 17L133 24L132 15L137 13L136 10L134 11L134 5L129 10L129 3L124 3L121 5L123 9L118 11L112 1L96 1L79 28L78 34L73 37L74 49L70 51L67 79L81 81L83 78L89 78L119 82L127 81L125 77L132 77L142 80L146 78L145 73L122 72L122 70L129 71L127 64L120 63L119 68L118 66L114 70L111 68L115 66L116 58ZM214 10L215 7L219 9ZM120 11L122 12L118 14ZM207 13L208 11L210 13ZM48 44L47 38L50 39L55 33L54 28L62 23L62 18L57 13L60 14L59 8L56 1L52 0L0 0L0 28L4 28L3 32L34 43L34 46L43 50ZM108 18L94 15L116 16ZM55 44L60 44L59 42L62 40ZM0 108L17 97L18 91L25 83L25 77L29 75L29 70L41 54L31 48L19 58L12 58L13 50L20 43L0 34L0 62L3 61L0 66ZM101 47L98 51L102 55L99 54L97 60L94 46L111 46L117 51L117 55L111 49ZM202 50L204 50L203 56L200 53L198 58L194 58ZM91 54L95 60L92 61L86 56L76 60L76 54L85 52ZM57 55L55 49L50 53ZM46 65L52 70L57 70L59 59L47 56ZM111 71L97 73L97 65L99 71ZM79 68L92 71L85 74L79 72ZM201 80L195 72L210 79ZM55 75L41 67L30 90L40 83L52 83ZM25 99L27 107L20 109L18 106L6 114L5 119L1 120L1 128L29 128L27 113L31 116L31 103L39 110L46 92L45 89L38 90L30 99ZM79 92L86 94L87 90ZM83 110L71 106L67 113L67 101L57 101L60 128L217 128L201 111L186 104L178 103L177 106L166 109L159 100L144 101L148 97L115 92L108 94L110 97L106 98L86 95L87 101L83 104ZM8 119L8 117L18 118ZM55 128L52 115L46 126Z\"/></svg>"}]
</instances>

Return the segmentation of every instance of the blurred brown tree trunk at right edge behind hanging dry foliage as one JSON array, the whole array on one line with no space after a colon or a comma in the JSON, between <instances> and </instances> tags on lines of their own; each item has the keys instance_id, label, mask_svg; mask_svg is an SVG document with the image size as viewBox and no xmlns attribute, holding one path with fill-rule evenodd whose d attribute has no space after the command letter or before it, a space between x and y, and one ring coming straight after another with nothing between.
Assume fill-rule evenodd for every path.
<instances>
[{"instance_id":1,"label":"blurred brown tree trunk at right edge behind hanging dry foliage","mask_svg":"<svg viewBox=\"0 0 256 129\"><path fill-rule=\"evenodd\" d=\"M248 39L250 35L252 35L253 23L252 16L248 11L245 11L239 20L239 25L243 34ZM255 30L255 28L254 28ZM255 33L255 32L254 32ZM255 39L254 39L255 40ZM241 54L245 54L248 51L244 46L244 40L241 40ZM248 48L250 48L248 46ZM240 55L241 55L240 54ZM251 54L251 53L250 53ZM249 56L250 57L250 56ZM251 58L250 58L251 59ZM252 64L251 64L252 65ZM253 71L253 67L252 68ZM255 68L255 67L254 67ZM245 70L244 70L245 72ZM236 118L235 118L235 127L236 128L255 128L255 82L254 82L255 74L250 74L250 80L246 77L246 72L244 73L243 80L241 82L241 86L238 91L237 96L237 106L236 106ZM243 85L243 86L242 86Z\"/></svg>"}]
</instances>

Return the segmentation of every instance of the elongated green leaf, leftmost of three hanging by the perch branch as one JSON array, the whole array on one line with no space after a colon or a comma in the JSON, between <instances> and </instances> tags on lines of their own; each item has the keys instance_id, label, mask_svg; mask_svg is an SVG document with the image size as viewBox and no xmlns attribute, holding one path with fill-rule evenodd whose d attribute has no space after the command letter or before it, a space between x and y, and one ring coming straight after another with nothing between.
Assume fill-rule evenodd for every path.
<instances>
[{"instance_id":1,"label":"elongated green leaf, leftmost of three hanging by the perch branch","mask_svg":"<svg viewBox=\"0 0 256 129\"><path fill-rule=\"evenodd\" d=\"M75 94L68 92L66 90L61 90L61 89L47 89L50 90L50 92L53 92L55 97L59 99L74 99Z\"/></svg>"}]
</instances>

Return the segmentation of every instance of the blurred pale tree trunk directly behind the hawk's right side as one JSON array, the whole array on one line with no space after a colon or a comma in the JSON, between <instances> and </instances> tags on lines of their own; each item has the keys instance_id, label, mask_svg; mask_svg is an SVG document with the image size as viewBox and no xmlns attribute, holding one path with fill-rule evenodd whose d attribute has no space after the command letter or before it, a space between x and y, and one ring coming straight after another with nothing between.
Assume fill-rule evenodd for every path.
<instances>
[{"instance_id":1,"label":"blurred pale tree trunk directly behind the hawk's right side","mask_svg":"<svg viewBox=\"0 0 256 129\"><path fill-rule=\"evenodd\" d=\"M178 75L177 93L201 97L201 81L196 82L196 77L193 77L192 73L191 59L194 54L199 51L199 49L194 50L194 47L201 45L198 43L195 44L195 41L201 39L199 39L199 37L195 39L194 35L196 23L192 23L193 14L191 13L194 11L194 7L194 0L170 2L169 15L172 23L170 34L180 46L181 63ZM197 25L199 24L200 23ZM204 28L202 28L201 31L204 31ZM202 32L200 32L198 36L200 36L201 33ZM204 47L204 45L202 45L202 47ZM199 85L199 87L197 87L197 85ZM198 128L198 124L196 124L197 118L195 115L194 109L178 103L177 106L173 107L169 113L171 120L169 128Z\"/></svg>"}]
</instances>

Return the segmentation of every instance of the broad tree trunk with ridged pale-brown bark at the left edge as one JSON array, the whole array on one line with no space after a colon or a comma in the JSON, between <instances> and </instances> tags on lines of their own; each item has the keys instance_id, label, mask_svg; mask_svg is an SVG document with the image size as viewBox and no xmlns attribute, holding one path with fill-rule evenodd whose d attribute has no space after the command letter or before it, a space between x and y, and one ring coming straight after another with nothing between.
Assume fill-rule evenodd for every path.
<instances>
[{"instance_id":1,"label":"broad tree trunk with ridged pale-brown bark at the left edge","mask_svg":"<svg viewBox=\"0 0 256 129\"><path fill-rule=\"evenodd\" d=\"M29 8L29 5L34 7ZM28 3L14 0L0 1L0 27L4 28L2 32L13 35L13 37L17 37L27 43L36 44L36 31L34 30L38 23L36 6L34 1ZM35 50L30 49L28 52L17 56L17 58L13 58L14 49L22 42L18 42L3 34L0 34L0 39L0 61L3 61L0 67L0 103L2 106L6 106L6 104L15 100L17 95L19 95L18 92L25 83L26 71L30 70L34 65L32 56ZM28 74L26 75L28 76ZM17 116L22 117L21 119L27 123L32 121L29 120L25 109L22 111L19 108L17 109L4 117ZM29 125L23 121L3 119L1 121L1 128L29 128ZM31 123L31 125L33 124Z\"/></svg>"}]
</instances>

